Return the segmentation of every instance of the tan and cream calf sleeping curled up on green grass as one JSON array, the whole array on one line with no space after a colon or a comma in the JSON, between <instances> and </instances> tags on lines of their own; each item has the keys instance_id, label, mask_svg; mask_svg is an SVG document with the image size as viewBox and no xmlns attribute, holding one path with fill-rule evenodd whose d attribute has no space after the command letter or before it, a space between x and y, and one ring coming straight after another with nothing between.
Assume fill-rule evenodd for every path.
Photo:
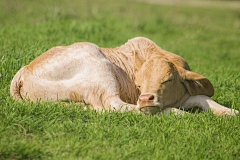
<instances>
[{"instance_id":1,"label":"tan and cream calf sleeping curled up on green grass","mask_svg":"<svg viewBox=\"0 0 240 160\"><path fill-rule=\"evenodd\" d=\"M147 38L117 48L92 43L54 47L14 76L14 99L70 100L96 110L161 114L202 108L215 115L239 112L214 102L211 82L190 71L187 62Z\"/></svg>"}]
</instances>

